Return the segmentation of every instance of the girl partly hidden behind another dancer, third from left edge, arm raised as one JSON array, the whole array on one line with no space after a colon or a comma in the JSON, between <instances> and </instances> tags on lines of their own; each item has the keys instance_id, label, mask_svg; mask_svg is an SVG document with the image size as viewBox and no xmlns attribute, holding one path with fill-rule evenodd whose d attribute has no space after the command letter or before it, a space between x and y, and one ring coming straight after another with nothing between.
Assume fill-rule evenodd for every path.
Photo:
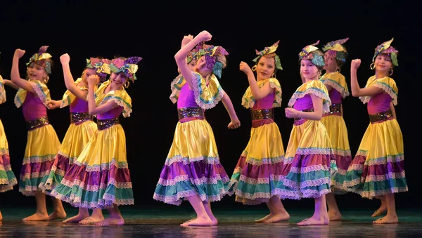
<instances>
[{"instance_id":1,"label":"girl partly hidden behind another dancer, third from left edge, arm raised","mask_svg":"<svg viewBox=\"0 0 422 238\"><path fill-rule=\"evenodd\" d=\"M75 81L70 72L69 55L61 55L60 61L62 63L63 76L68 91L65 92L61 101L49 101L49 109L69 106L70 126L65 134L65 138L63 138L58 154L54 159L53 166L51 166L49 173L46 173L39 185L46 194L50 194L51 190L61 183L68 168L70 168L73 161L79 157L79 154L81 154L82 150L84 150L84 147L88 144L97 130L96 123L92 120L93 117L88 112L88 77L91 75L98 75L98 77L102 79L100 81L104 81L107 75L110 74L110 68L105 63L105 60L90 58L87 59L87 66L85 67L84 72L82 72L82 77ZM79 207L77 216L68 218L64 222L80 222L82 224L87 224L102 220L103 213L101 209L94 209L92 217L95 219L89 218L88 209Z\"/></svg>"}]
</instances>

